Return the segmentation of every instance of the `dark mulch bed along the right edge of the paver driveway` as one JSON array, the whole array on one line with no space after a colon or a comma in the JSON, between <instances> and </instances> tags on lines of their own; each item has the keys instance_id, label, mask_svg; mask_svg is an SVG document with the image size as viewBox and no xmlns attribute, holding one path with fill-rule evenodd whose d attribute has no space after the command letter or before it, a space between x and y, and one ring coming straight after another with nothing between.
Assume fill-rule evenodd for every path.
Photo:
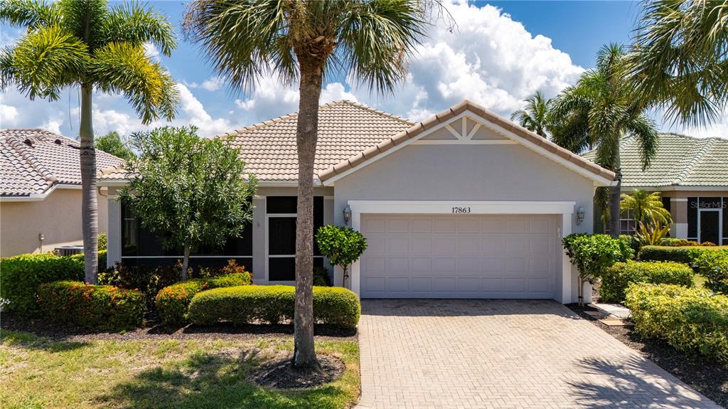
<instances>
[{"instance_id":1,"label":"dark mulch bed along the right edge of the paver driveway","mask_svg":"<svg viewBox=\"0 0 728 409\"><path fill-rule=\"evenodd\" d=\"M689 357L678 352L665 341L642 338L634 330L634 325L625 327L604 325L598 319L585 314L585 311L598 311L593 307L579 307L576 304L568 305L568 307L718 405L728 408L728 368L726 366L702 357Z\"/></svg>"}]
</instances>

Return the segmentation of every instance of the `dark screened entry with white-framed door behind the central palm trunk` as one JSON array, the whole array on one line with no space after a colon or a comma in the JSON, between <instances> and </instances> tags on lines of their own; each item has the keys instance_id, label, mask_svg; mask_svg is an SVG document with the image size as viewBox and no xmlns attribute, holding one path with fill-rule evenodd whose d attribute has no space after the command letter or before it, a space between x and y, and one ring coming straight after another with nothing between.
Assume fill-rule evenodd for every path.
<instances>
[{"instance_id":1,"label":"dark screened entry with white-framed door behind the central palm trunk","mask_svg":"<svg viewBox=\"0 0 728 409\"><path fill-rule=\"evenodd\" d=\"M296 196L266 198L268 281L296 280ZM323 196L314 197L314 234L323 226ZM313 237L312 237L313 240ZM314 240L314 267L323 267L323 255Z\"/></svg>"}]
</instances>

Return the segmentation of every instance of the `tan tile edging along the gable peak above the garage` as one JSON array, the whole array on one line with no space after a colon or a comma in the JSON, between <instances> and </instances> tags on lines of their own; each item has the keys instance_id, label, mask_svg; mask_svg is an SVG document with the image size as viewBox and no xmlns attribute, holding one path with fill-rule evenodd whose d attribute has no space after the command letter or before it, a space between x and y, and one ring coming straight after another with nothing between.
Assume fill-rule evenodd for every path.
<instances>
[{"instance_id":1,"label":"tan tile edging along the gable peak above the garage","mask_svg":"<svg viewBox=\"0 0 728 409\"><path fill-rule=\"evenodd\" d=\"M482 116L483 118L498 125L499 127L502 127L505 130L509 130L510 132L515 133L521 138L529 140L531 143L535 143L537 146L544 148L546 151L552 154L556 154L561 158L566 159L569 162L576 164L577 166L582 167L585 170L588 170L596 175L600 175L601 177L608 180L614 179L614 172L606 170L598 164L590 162L584 159L582 156L574 154L567 149L561 148L561 146L550 142L546 138L543 138L535 134L534 132L526 130L525 128L520 127L517 124L514 124L513 122L502 118L501 116L498 116L491 111L488 111L486 108L483 108L476 103L472 103L469 100L464 100L462 103L459 103L446 111L440 112L440 114L436 114L435 116L430 117L430 119L426 119L419 124L413 125L406 130L402 130L396 135L393 135L391 138L387 138L380 143L377 143L376 145L369 146L366 149L358 151L357 154L349 156L348 159L339 162L338 164L328 168L324 172L320 172L320 180L324 181L333 178L333 176L338 175L341 172L346 172L353 167L357 167L359 164L365 162L366 160L371 159L384 151L388 151L389 149L399 145L400 143L405 142L406 140L415 138L417 135L421 134L425 130L429 130L430 128L435 127L435 125L437 124L447 122L454 116L462 114L464 111L470 111L474 114L477 114L478 116Z\"/></svg>"}]
</instances>

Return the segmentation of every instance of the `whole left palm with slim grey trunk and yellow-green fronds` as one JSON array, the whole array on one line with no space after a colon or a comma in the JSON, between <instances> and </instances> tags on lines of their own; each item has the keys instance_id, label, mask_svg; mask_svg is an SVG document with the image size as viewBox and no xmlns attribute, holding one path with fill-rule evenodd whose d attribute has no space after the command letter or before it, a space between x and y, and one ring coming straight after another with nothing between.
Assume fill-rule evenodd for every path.
<instances>
[{"instance_id":1,"label":"whole left palm with slim grey trunk and yellow-green fronds","mask_svg":"<svg viewBox=\"0 0 728 409\"><path fill-rule=\"evenodd\" d=\"M79 125L85 279L96 284L98 204L92 124L94 88L122 93L143 123L171 119L178 93L162 65L145 55L151 42L170 55L176 45L165 17L138 4L108 8L106 0L0 1L0 21L24 27L15 47L0 52L0 87L17 84L28 98L57 100L81 88Z\"/></svg>"}]
</instances>

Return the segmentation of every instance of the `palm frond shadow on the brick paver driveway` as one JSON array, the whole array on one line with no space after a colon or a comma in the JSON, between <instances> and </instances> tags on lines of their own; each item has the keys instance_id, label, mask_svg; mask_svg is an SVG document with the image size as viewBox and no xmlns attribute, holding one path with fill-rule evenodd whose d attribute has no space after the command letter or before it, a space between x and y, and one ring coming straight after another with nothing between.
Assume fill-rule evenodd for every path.
<instances>
[{"instance_id":1,"label":"palm frond shadow on the brick paver driveway","mask_svg":"<svg viewBox=\"0 0 728 409\"><path fill-rule=\"evenodd\" d=\"M580 408L718 408L672 376L655 378L663 371L641 357L614 363L601 359L581 360L583 381L569 382ZM608 380L590 382L590 378Z\"/></svg>"}]
</instances>

